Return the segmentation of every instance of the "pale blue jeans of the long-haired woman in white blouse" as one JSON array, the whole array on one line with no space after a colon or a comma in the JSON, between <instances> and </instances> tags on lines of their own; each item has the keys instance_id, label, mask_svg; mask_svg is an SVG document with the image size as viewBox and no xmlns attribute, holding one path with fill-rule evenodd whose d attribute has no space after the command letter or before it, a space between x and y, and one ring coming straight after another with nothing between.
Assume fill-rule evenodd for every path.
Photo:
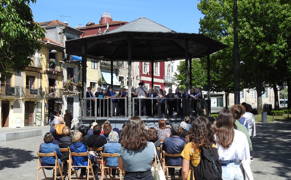
<instances>
[{"instance_id":1,"label":"pale blue jeans of the long-haired woman in white blouse","mask_svg":"<svg viewBox=\"0 0 291 180\"><path fill-rule=\"evenodd\" d=\"M230 163L229 161L220 161L220 163L222 167L223 180L244 180L242 165L239 160L233 163Z\"/></svg>"}]
</instances>

